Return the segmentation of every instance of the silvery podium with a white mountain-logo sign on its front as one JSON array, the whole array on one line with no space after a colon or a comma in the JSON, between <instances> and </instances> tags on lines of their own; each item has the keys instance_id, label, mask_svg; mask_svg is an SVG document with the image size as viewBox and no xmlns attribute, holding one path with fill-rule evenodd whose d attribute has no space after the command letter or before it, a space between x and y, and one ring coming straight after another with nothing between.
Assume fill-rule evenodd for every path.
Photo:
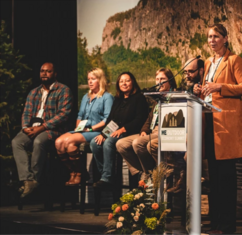
<instances>
[{"instance_id":1,"label":"silvery podium with a white mountain-logo sign on its front","mask_svg":"<svg viewBox=\"0 0 242 235\"><path fill-rule=\"evenodd\" d=\"M188 92L145 92L144 95L158 101L158 164L164 161L161 151L163 143L161 142L162 134L166 135L166 131L162 130L162 110L164 107L172 106L177 107L177 110L181 107L186 113L184 128L187 133L187 145L185 143L187 151L187 188L186 188L186 230L190 235L201 234L201 173L202 173L202 112L221 112L221 109L214 107L213 105L205 102L204 100L196 97ZM172 115L167 115L166 117ZM174 115L173 115L174 116ZM164 117L164 114L163 114ZM165 119L165 118L164 118ZM163 124L164 124L163 119ZM181 120L181 118L180 118ZM171 121L170 121L171 122ZM182 123L182 121L173 121L172 125ZM171 126L172 126L171 125ZM182 126L183 124L181 124ZM174 125L175 126L175 125ZM172 130L172 129L171 129ZM179 138L175 143L168 144L165 151L179 151L176 150L176 146L180 144ZM181 138L182 139L182 138ZM183 140L184 142L184 140ZM181 145L182 146L182 145ZM184 147L184 143L183 143ZM169 149L170 148L170 149ZM160 190L157 195L157 200L162 200L164 191L164 181L162 180Z\"/></svg>"}]
</instances>

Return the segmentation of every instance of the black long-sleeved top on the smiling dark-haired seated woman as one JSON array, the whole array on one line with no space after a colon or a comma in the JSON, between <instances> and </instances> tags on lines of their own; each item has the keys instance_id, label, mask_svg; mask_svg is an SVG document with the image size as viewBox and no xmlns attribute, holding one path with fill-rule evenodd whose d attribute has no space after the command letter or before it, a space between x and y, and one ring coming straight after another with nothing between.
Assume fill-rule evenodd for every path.
<instances>
[{"instance_id":1,"label":"black long-sleeved top on the smiling dark-haired seated woman","mask_svg":"<svg viewBox=\"0 0 242 235\"><path fill-rule=\"evenodd\" d=\"M112 120L119 128L124 127L127 135L136 134L140 132L148 113L148 103L140 92L126 99L115 97L106 125Z\"/></svg>"}]
</instances>

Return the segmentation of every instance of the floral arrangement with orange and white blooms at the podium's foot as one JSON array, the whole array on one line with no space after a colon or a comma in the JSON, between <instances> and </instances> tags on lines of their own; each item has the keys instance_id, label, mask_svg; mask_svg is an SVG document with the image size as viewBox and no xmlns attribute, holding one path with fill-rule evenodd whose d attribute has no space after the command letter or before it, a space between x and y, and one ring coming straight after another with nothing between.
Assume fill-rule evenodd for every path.
<instances>
[{"instance_id":1,"label":"floral arrangement with orange and white blooms at the podium's foot","mask_svg":"<svg viewBox=\"0 0 242 235\"><path fill-rule=\"evenodd\" d=\"M159 173L158 169L163 170ZM163 165L157 167L148 180L140 180L136 189L126 193L120 201L112 205L109 214L106 234L115 235L158 235L163 234L165 218L170 210L165 209L164 203L156 202L157 186L153 181L164 176L167 168ZM160 181L159 181L160 182Z\"/></svg>"}]
</instances>

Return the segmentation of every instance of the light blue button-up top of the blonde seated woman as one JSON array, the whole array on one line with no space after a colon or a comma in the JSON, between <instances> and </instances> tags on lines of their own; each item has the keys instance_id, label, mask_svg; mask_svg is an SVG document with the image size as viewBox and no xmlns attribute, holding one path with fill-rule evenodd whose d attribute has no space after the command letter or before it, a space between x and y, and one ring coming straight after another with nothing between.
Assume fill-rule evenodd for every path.
<instances>
[{"instance_id":1,"label":"light blue button-up top of the blonde seated woman","mask_svg":"<svg viewBox=\"0 0 242 235\"><path fill-rule=\"evenodd\" d=\"M78 120L88 120L86 127L91 127L103 121L106 123L107 117L113 105L113 96L105 92L102 97L95 97L90 102L90 97L85 94L82 98Z\"/></svg>"}]
</instances>

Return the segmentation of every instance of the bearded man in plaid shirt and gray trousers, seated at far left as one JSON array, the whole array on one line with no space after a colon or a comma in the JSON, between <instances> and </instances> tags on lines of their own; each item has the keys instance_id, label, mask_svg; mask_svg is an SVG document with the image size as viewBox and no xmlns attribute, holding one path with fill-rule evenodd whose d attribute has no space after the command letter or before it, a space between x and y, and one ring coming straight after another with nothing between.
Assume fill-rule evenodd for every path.
<instances>
[{"instance_id":1,"label":"bearded man in plaid shirt and gray trousers, seated at far left","mask_svg":"<svg viewBox=\"0 0 242 235\"><path fill-rule=\"evenodd\" d=\"M52 63L41 66L41 85L30 91L22 115L22 130L12 140L19 180L24 182L21 197L38 186L48 148L66 132L72 94L67 86L57 82L56 76ZM33 150L30 161L29 149Z\"/></svg>"}]
</instances>

